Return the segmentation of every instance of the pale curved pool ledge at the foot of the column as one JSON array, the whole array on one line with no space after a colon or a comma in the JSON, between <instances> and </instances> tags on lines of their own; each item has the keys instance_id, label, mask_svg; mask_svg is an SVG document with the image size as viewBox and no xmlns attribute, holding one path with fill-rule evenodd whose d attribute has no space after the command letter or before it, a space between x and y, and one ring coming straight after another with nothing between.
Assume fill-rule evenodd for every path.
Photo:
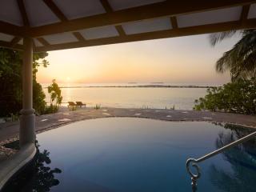
<instances>
[{"instance_id":1,"label":"pale curved pool ledge at the foot of the column","mask_svg":"<svg viewBox=\"0 0 256 192\"><path fill-rule=\"evenodd\" d=\"M34 159L36 152L34 143L26 144L22 146L21 150L18 150L17 154L0 163L0 191L10 178Z\"/></svg>"}]
</instances>

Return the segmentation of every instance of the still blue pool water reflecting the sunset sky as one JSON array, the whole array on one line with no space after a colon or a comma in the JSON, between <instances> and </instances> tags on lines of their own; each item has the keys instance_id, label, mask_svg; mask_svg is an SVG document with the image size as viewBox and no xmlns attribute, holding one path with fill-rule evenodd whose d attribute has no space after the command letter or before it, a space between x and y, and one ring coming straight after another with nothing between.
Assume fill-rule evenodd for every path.
<instances>
[{"instance_id":1,"label":"still blue pool water reflecting the sunset sky","mask_svg":"<svg viewBox=\"0 0 256 192\"><path fill-rule=\"evenodd\" d=\"M210 122L102 118L75 122L37 137L41 154L50 152L44 154L48 165L41 162L50 167L41 169L50 173L44 179L50 191L170 192L191 191L187 158L198 158L251 131ZM199 166L198 191L255 191L255 140ZM31 181L25 187L46 191Z\"/></svg>"}]
</instances>

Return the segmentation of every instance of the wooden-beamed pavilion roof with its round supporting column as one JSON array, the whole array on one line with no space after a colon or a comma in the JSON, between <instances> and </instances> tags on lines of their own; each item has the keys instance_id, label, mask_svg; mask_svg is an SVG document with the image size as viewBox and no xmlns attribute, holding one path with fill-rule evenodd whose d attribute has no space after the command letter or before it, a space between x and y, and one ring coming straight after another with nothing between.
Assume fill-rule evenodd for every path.
<instances>
[{"instance_id":1,"label":"wooden-beamed pavilion roof with its round supporting column","mask_svg":"<svg viewBox=\"0 0 256 192\"><path fill-rule=\"evenodd\" d=\"M255 27L255 0L0 0L0 46L24 51L20 145L27 154L0 171L0 190L16 164L34 156L33 52Z\"/></svg>"}]
</instances>

